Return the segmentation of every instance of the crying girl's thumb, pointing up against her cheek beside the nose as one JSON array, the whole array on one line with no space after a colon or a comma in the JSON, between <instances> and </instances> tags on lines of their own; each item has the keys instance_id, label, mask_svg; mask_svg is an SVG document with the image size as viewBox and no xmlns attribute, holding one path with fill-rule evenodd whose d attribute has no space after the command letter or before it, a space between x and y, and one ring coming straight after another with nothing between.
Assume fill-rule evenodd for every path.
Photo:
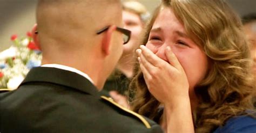
<instances>
[{"instance_id":1,"label":"crying girl's thumb, pointing up against her cheek beside the nose","mask_svg":"<svg viewBox=\"0 0 256 133\"><path fill-rule=\"evenodd\" d=\"M179 63L178 58L176 57L176 55L173 53L173 51L171 50L171 47L166 47L165 49L165 55L168 59L168 61L170 62L171 65L173 65L174 68L182 68L181 64Z\"/></svg>"}]
</instances>

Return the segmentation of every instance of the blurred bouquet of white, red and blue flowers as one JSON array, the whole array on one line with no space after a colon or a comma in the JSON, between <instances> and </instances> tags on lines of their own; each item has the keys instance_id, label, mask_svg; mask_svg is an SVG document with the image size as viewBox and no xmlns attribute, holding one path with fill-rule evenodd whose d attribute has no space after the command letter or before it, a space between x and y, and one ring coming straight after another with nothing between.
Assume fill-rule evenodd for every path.
<instances>
[{"instance_id":1,"label":"blurred bouquet of white, red and blue flowers","mask_svg":"<svg viewBox=\"0 0 256 133\"><path fill-rule=\"evenodd\" d=\"M41 65L42 54L28 32L18 39L11 36L14 44L0 53L0 90L15 90L33 67Z\"/></svg>"}]
</instances>

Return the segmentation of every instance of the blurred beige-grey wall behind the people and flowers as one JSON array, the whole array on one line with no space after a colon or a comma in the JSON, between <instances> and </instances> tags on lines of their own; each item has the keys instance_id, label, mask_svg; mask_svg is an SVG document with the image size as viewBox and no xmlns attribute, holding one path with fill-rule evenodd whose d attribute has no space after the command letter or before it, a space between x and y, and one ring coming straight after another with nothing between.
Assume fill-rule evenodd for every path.
<instances>
[{"instance_id":1,"label":"blurred beige-grey wall behind the people and flowers","mask_svg":"<svg viewBox=\"0 0 256 133\"><path fill-rule=\"evenodd\" d=\"M68 1L68 0L67 0ZM92 0L93 1L93 0ZM160 0L138 0L152 12ZM256 0L227 0L243 16L256 12ZM35 24L37 0L0 0L0 51L10 47L10 36L25 36Z\"/></svg>"}]
</instances>

